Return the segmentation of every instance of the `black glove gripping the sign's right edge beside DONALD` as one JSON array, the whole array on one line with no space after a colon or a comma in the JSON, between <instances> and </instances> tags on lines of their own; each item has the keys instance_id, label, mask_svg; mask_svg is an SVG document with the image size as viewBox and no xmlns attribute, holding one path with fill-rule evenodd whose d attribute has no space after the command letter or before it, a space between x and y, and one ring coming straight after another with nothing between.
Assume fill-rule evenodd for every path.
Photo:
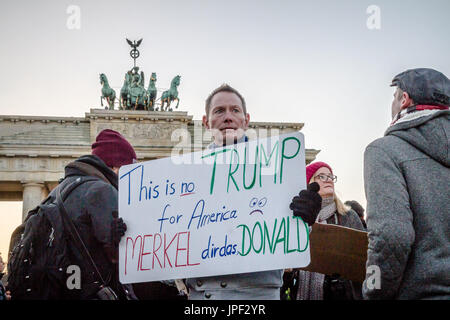
<instances>
[{"instance_id":1,"label":"black glove gripping the sign's right edge beside DONALD","mask_svg":"<svg viewBox=\"0 0 450 320\"><path fill-rule=\"evenodd\" d=\"M300 191L289 205L289 208L294 211L294 216L301 217L309 226L316 222L322 208L322 197L317 193L319 189L317 182L309 184L307 189Z\"/></svg>"}]
</instances>

